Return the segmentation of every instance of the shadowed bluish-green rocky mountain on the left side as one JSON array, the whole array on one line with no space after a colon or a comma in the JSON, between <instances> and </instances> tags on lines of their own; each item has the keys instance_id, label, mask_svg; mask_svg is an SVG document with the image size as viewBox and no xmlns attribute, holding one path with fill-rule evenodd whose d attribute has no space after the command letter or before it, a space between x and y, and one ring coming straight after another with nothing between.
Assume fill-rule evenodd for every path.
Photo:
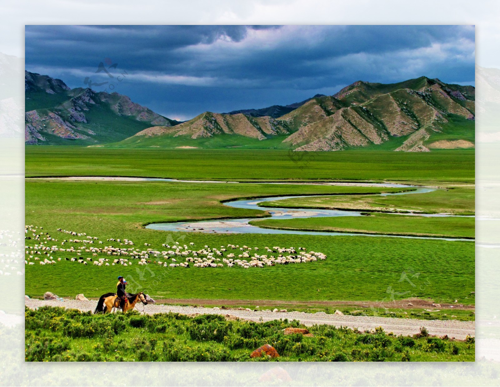
<instances>
[{"instance_id":1,"label":"shadowed bluish-green rocky mountain on the left side","mask_svg":"<svg viewBox=\"0 0 500 387\"><path fill-rule=\"evenodd\" d=\"M26 144L92 145L120 141L170 120L116 92L70 89L62 80L25 72Z\"/></svg>"}]
</instances>

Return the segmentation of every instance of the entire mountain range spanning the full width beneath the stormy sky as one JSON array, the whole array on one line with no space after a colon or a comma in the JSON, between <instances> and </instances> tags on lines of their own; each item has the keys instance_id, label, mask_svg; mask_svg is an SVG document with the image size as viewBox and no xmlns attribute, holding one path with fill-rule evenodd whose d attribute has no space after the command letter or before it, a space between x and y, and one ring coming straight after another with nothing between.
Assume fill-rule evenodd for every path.
<instances>
[{"instance_id":1,"label":"entire mountain range spanning the full width beneath the stormy sky","mask_svg":"<svg viewBox=\"0 0 500 387\"><path fill-rule=\"evenodd\" d=\"M419 77L356 81L334 95L178 122L125 95L26 71L26 144L429 151L474 146L475 89Z\"/></svg>"}]
</instances>

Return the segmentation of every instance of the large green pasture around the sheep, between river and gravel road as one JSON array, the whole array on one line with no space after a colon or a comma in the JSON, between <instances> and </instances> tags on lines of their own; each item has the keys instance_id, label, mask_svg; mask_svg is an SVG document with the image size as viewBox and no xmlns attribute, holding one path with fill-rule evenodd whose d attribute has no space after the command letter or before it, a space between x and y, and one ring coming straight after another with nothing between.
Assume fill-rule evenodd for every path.
<instances>
[{"instance_id":1,"label":"large green pasture around the sheep, between river and gravel road","mask_svg":"<svg viewBox=\"0 0 500 387\"><path fill-rule=\"evenodd\" d=\"M59 242L69 239L57 228L85 232L104 241L128 238L135 247L161 250L162 243L193 242L194 247L228 243L248 246L304 246L327 254L311 264L242 268L162 268L82 266L61 261L53 266L27 266L25 291L41 296L47 290L74 297L98 297L112 291L122 275L154 298L239 300L388 300L391 296L431 297L436 302L473 304L474 244L390 237L310 236L269 234L166 233L142 228L149 222L184 219L256 217L264 212L227 207L230 197L332 193L339 187L273 184L202 184L168 182L30 181L25 185L26 224L42 226ZM350 187L353 190L359 187ZM33 242L27 240L27 245ZM111 244L111 242L109 242ZM78 244L74 245L75 248ZM74 253L57 254L70 258ZM82 257L91 257L82 253ZM413 282L399 282L411 268L421 273ZM443 275L446 273L446 275ZM63 280L61 280L63 279ZM352 286L362 283L362 287ZM391 286L401 294L387 294Z\"/></svg>"}]
</instances>

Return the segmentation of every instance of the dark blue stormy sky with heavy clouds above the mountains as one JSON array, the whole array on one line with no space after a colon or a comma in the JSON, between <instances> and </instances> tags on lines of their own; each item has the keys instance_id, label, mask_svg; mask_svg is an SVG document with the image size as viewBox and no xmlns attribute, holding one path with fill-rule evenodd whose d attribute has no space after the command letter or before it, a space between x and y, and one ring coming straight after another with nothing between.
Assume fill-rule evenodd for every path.
<instances>
[{"instance_id":1,"label":"dark blue stormy sky with heavy clouds above the mountains","mask_svg":"<svg viewBox=\"0 0 500 387\"><path fill-rule=\"evenodd\" d=\"M471 25L26 25L25 69L187 120L331 95L357 80L424 75L474 85L474 32Z\"/></svg>"}]
</instances>

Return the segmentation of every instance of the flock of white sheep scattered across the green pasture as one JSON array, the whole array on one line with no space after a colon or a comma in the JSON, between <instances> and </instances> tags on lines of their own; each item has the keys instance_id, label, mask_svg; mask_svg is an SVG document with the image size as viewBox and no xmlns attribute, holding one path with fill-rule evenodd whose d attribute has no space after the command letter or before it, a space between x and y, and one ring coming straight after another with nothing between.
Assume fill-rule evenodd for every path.
<instances>
[{"instance_id":1,"label":"flock of white sheep scattered across the green pasture","mask_svg":"<svg viewBox=\"0 0 500 387\"><path fill-rule=\"evenodd\" d=\"M85 233L75 233L57 229L57 231L71 236L84 237L82 239L69 239L60 243L61 247L57 245L48 246L47 242L58 242L57 239L51 238L48 233L42 231L43 228L25 226L25 234L28 232L32 236L26 239L39 241L34 245L25 246L25 255L27 256L24 263L26 265L34 265L34 261L39 261L40 265L53 265L61 258L54 258L52 256L56 253L71 253L75 255L72 258L64 258L66 261L79 263L82 265L95 265L95 266L130 266L136 263L139 266L155 264L162 267L183 267L189 268L191 265L196 268L221 268L224 266L233 267L239 266L244 269L253 267L263 268L264 266L287 265L306 262L315 262L317 260L326 259L326 255L320 252L309 251L306 252L304 247L282 248L273 246L272 248L264 247L264 253L259 253L258 247L239 246L228 244L220 246L219 248L205 245L198 250L194 249L194 243L190 242L188 245L180 245L178 242L169 246L162 244L161 250L153 250L151 248L138 249L125 246L133 246L133 242L128 239L107 239L107 242L119 243L120 247L113 246L90 246L98 241L97 237L87 236ZM65 243L79 244L76 249L73 246L64 247ZM150 246L144 243L145 247ZM91 256L90 256L91 255Z\"/></svg>"}]
</instances>

